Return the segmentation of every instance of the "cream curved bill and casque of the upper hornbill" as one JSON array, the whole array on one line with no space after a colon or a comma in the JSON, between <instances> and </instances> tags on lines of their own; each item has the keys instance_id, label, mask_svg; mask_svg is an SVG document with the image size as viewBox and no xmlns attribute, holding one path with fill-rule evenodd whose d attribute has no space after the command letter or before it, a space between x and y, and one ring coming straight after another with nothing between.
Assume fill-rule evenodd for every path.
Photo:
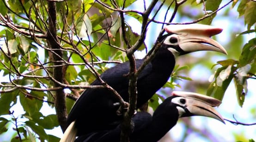
<instances>
[{"instance_id":1,"label":"cream curved bill and casque of the upper hornbill","mask_svg":"<svg viewBox=\"0 0 256 142\"><path fill-rule=\"evenodd\" d=\"M178 34L178 45L185 52L218 51L227 54L222 45L211 39L211 36L221 33L222 28L203 24L168 25L165 31Z\"/></svg>"}]
</instances>

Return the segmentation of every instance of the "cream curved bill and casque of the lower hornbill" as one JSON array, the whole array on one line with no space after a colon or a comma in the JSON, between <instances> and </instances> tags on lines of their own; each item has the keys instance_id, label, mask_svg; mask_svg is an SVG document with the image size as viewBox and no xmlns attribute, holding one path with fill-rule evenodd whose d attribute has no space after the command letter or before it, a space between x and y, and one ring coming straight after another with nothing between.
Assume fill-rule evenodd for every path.
<instances>
[{"instance_id":1,"label":"cream curved bill and casque of the lower hornbill","mask_svg":"<svg viewBox=\"0 0 256 142\"><path fill-rule=\"evenodd\" d=\"M173 91L172 95L186 98L185 113L181 117L206 116L217 119L225 124L222 116L213 108L220 105L221 102L219 100L213 97L183 91Z\"/></svg>"}]
</instances>

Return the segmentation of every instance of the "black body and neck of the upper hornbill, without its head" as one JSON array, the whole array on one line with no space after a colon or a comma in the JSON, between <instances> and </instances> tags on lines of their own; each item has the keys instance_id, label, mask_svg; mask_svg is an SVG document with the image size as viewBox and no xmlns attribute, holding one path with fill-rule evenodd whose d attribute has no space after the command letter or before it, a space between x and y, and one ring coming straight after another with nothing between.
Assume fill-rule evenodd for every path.
<instances>
[{"instance_id":1,"label":"black body and neck of the upper hornbill, without its head","mask_svg":"<svg viewBox=\"0 0 256 142\"><path fill-rule=\"evenodd\" d=\"M155 57L138 76L137 108L146 103L159 88L165 85L174 68L175 59L171 52L167 52L162 48L158 51L156 56L159 55L161 57ZM143 61L143 59L136 60L136 68L139 68ZM129 62L124 62L106 70L100 76L101 79L112 86L126 102L128 102L129 99L129 78L126 75L128 73ZM101 83L95 80L91 85L101 85ZM122 119L122 116L116 114L116 111L120 107L119 105L114 105L116 102L118 102L118 100L107 88L87 89L74 104L73 111L70 112L67 122L71 123L74 119L76 120L76 123L79 124L76 125L78 130L83 130L83 133L78 131L78 136L93 130L100 130L101 128L112 128L112 125L116 126L114 124L115 121Z\"/></svg>"}]
</instances>

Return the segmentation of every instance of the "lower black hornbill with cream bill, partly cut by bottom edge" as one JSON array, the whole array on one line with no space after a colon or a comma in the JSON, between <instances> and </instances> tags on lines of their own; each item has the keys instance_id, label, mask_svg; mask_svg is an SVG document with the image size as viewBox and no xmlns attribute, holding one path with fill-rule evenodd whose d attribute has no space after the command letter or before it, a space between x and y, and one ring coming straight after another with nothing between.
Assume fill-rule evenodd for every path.
<instances>
[{"instance_id":1,"label":"lower black hornbill with cream bill, partly cut by bottom edge","mask_svg":"<svg viewBox=\"0 0 256 142\"><path fill-rule=\"evenodd\" d=\"M155 110L153 116L146 112L137 112L133 117L134 129L130 142L157 142L174 125L178 118L201 115L224 122L221 115L213 108L221 102L205 95L173 91ZM121 127L112 130L93 132L79 136L75 142L119 142Z\"/></svg>"}]
</instances>

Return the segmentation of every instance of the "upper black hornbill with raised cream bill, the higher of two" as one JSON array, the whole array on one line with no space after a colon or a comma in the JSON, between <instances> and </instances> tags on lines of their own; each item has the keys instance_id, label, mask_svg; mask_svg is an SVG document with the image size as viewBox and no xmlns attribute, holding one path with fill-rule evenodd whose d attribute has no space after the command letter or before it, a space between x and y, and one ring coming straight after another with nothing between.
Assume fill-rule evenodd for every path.
<instances>
[{"instance_id":1,"label":"upper black hornbill with raised cream bill, the higher of two","mask_svg":"<svg viewBox=\"0 0 256 142\"><path fill-rule=\"evenodd\" d=\"M226 50L210 37L219 34L222 29L202 24L169 25L165 27L167 34L158 42L161 47L150 63L141 71L137 79L137 108L146 103L169 79L175 66L175 57L195 51L219 51L226 54ZM139 68L144 59L136 60ZM129 62L116 65L101 74L101 79L114 88L128 102ZM101 85L95 80L91 85ZM74 135L111 129L116 122L122 120L117 114L120 107L118 100L107 88L86 89L73 105L67 125L72 127ZM72 124L72 125L70 125ZM70 130L70 129L68 129ZM64 136L69 134L65 132Z\"/></svg>"}]
</instances>

